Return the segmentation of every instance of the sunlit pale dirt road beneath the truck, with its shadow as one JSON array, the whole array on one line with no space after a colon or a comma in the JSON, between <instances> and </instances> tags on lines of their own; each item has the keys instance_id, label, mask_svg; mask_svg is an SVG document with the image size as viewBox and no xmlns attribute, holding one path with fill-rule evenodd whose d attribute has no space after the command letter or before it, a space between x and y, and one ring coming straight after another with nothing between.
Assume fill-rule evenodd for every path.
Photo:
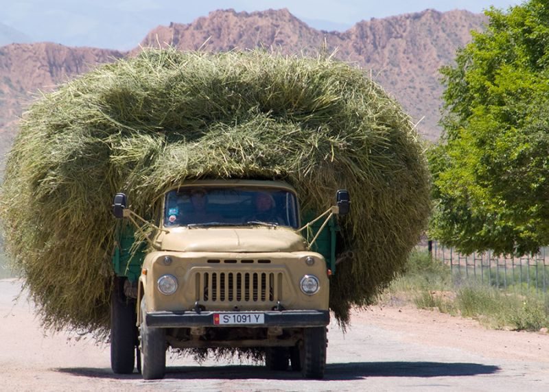
<instances>
[{"instance_id":1,"label":"sunlit pale dirt road beneath the truck, with its shadow","mask_svg":"<svg viewBox=\"0 0 549 392\"><path fill-rule=\"evenodd\" d=\"M169 358L164 380L115 376L108 345L45 334L32 306L0 280L2 391L549 391L549 335L484 330L413 308L356 312L329 328L325 380L213 360Z\"/></svg>"}]
</instances>

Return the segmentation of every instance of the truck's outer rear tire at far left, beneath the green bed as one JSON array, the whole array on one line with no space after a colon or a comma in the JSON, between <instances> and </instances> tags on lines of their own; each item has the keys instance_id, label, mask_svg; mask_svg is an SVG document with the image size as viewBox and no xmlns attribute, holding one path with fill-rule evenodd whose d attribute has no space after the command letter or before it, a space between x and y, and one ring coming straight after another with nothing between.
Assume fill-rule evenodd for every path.
<instances>
[{"instance_id":1,"label":"truck's outer rear tire at far left, beneath the green bed","mask_svg":"<svg viewBox=\"0 0 549 392\"><path fill-rule=\"evenodd\" d=\"M110 295L110 368L115 374L129 374L135 365L137 327L135 301L124 295L124 280L117 278Z\"/></svg>"}]
</instances>

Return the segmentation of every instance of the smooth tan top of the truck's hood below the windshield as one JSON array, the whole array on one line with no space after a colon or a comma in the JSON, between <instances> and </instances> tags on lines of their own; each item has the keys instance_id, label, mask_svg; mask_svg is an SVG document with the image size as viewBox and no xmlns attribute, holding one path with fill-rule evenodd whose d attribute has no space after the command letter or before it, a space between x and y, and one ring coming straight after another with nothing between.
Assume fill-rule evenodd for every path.
<instances>
[{"instance_id":1,"label":"smooth tan top of the truck's hood below the windshield","mask_svg":"<svg viewBox=\"0 0 549 392\"><path fill-rule=\"evenodd\" d=\"M300 252L305 240L290 228L173 228L154 241L172 252Z\"/></svg>"}]
</instances>

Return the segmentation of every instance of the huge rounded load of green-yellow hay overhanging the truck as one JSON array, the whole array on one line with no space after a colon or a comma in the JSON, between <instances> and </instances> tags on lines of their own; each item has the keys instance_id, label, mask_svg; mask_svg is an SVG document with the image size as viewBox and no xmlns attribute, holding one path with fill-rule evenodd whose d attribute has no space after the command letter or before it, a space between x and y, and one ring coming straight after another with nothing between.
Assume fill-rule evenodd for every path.
<instances>
[{"instance_id":1,"label":"huge rounded load of green-yellow hay overhanging the truck","mask_svg":"<svg viewBox=\"0 0 549 392\"><path fill-rule=\"evenodd\" d=\"M408 116L362 71L327 58L146 50L43 96L20 127L1 217L47 328L108 329L119 191L150 217L189 179L281 179L317 211L349 189L339 251L353 256L330 298L342 322L403 269L429 211Z\"/></svg>"}]
</instances>

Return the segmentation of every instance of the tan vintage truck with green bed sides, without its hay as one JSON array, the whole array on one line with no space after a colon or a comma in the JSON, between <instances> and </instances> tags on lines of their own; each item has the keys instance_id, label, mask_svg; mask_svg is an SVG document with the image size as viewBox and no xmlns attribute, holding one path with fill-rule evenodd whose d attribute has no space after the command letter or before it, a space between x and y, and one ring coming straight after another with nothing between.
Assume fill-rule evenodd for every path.
<instances>
[{"instance_id":1,"label":"tan vintage truck with green bed sides, without its hay","mask_svg":"<svg viewBox=\"0 0 549 392\"><path fill-rule=\"evenodd\" d=\"M117 193L113 371L163 378L168 347L259 348L269 369L323 378L335 216L349 206L339 190L323 214L301 217L285 182L194 180L159 197L151 223Z\"/></svg>"}]
</instances>

